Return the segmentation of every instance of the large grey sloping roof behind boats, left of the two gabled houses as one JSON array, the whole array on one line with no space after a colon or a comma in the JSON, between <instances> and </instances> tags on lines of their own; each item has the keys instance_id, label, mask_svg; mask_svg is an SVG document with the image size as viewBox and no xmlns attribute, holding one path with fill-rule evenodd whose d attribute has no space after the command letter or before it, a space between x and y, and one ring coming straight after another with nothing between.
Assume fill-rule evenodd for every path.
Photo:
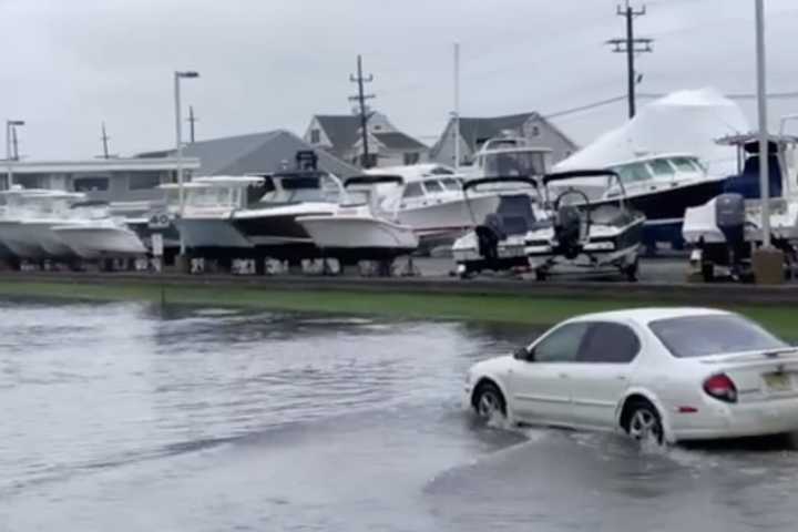
<instances>
[{"instance_id":1,"label":"large grey sloping roof behind boats, left of the two gabled houses","mask_svg":"<svg viewBox=\"0 0 798 532\"><path fill-rule=\"evenodd\" d=\"M324 150L314 150L310 144L285 130L195 142L186 145L183 154L200 158L201 166L196 171L198 175L241 175L276 172L283 168L285 162L293 167L294 156L300 150L315 151L319 168L339 177L360 173L357 167ZM174 150L143 153L140 156L150 157L163 153L173 154Z\"/></svg>"}]
</instances>

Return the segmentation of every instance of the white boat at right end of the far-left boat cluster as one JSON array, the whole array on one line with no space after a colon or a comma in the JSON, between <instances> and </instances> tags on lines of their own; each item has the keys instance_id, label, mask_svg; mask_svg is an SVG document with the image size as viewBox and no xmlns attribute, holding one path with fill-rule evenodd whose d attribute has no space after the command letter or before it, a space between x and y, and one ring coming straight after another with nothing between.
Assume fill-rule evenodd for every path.
<instances>
[{"instance_id":1,"label":"white boat at right end of the far-left boat cluster","mask_svg":"<svg viewBox=\"0 0 798 532\"><path fill-rule=\"evenodd\" d=\"M105 202L83 202L72 206L73 216L51 227L51 233L71 252L84 259L144 256L147 248L121 217L111 216Z\"/></svg>"}]
</instances>

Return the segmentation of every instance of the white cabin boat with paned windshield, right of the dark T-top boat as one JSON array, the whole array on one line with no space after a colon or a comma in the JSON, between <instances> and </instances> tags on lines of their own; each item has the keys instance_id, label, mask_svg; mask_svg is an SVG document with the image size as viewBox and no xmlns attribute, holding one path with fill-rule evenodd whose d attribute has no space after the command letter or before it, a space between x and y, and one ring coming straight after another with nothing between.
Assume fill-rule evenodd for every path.
<instances>
[{"instance_id":1,"label":"white cabin boat with paned windshield, right of the dark T-top boat","mask_svg":"<svg viewBox=\"0 0 798 532\"><path fill-rule=\"evenodd\" d=\"M367 172L368 175L399 175L401 185L380 185L380 207L413 228L422 244L452 242L464 231L495 212L499 195L483 193L467 201L463 175L438 164L395 166Z\"/></svg>"}]
</instances>

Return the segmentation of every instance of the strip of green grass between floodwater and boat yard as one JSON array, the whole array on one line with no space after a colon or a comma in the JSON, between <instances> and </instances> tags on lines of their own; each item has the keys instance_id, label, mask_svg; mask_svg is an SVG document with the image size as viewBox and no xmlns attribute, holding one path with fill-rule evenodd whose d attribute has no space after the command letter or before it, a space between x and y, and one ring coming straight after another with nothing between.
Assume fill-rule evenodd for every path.
<instances>
[{"instance_id":1,"label":"strip of green grass between floodwater and boat yard","mask_svg":"<svg viewBox=\"0 0 798 532\"><path fill-rule=\"evenodd\" d=\"M399 294L376 291L278 290L252 286L167 286L170 304L379 315L405 318L446 318L549 325L584 313L662 305L656 300L545 298L507 295ZM156 285L12 283L0 282L0 295L82 300L142 300L158 303ZM665 304L668 305L668 304ZM671 306L673 304L669 304ZM787 305L729 305L775 332L798 337L795 309Z\"/></svg>"}]
</instances>

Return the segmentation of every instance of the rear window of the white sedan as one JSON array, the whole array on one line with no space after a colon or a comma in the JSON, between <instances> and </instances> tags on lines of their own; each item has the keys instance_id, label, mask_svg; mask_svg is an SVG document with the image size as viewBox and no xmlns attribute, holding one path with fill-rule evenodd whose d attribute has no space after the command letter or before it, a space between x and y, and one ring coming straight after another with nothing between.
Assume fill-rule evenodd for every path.
<instances>
[{"instance_id":1,"label":"rear window of the white sedan","mask_svg":"<svg viewBox=\"0 0 798 532\"><path fill-rule=\"evenodd\" d=\"M648 327L677 358L788 347L757 324L730 314L659 319Z\"/></svg>"}]
</instances>

